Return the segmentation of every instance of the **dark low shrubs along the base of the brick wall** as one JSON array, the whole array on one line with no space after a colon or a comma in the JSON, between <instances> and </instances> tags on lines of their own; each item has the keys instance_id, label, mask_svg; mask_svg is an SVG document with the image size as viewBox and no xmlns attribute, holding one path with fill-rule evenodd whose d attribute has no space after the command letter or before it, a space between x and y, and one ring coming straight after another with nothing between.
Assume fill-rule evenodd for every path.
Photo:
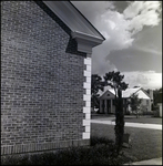
<instances>
[{"instance_id":1,"label":"dark low shrubs along the base of the brick wall","mask_svg":"<svg viewBox=\"0 0 163 166\"><path fill-rule=\"evenodd\" d=\"M113 141L91 137L91 146L69 147L55 153L1 157L1 165L121 165L129 157L112 157Z\"/></svg>"}]
</instances>

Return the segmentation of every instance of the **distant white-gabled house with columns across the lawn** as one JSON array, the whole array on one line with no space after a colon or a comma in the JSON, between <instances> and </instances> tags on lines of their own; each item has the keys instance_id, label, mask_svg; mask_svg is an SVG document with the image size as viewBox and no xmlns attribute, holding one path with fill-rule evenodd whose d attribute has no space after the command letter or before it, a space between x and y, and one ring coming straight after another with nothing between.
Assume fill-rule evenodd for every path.
<instances>
[{"instance_id":1,"label":"distant white-gabled house with columns across the lawn","mask_svg":"<svg viewBox=\"0 0 163 166\"><path fill-rule=\"evenodd\" d=\"M100 91L100 113L115 113L115 92L113 89L110 89L109 86L104 87L104 91ZM125 91L122 91L122 97L123 97L123 106L124 106L124 113L128 111L131 111L130 105L128 104L128 101L130 100L132 94L137 94L137 97L142 100L141 102L141 108L143 111L151 111L151 104L153 98L152 92L151 97L150 95L141 87L135 89L126 89Z\"/></svg>"}]
</instances>

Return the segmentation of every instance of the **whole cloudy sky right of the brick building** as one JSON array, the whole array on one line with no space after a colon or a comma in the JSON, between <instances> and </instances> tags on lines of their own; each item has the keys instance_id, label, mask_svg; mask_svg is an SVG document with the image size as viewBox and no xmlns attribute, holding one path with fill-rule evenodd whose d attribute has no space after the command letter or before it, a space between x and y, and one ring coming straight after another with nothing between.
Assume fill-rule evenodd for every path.
<instances>
[{"instance_id":1,"label":"whole cloudy sky right of the brick building","mask_svg":"<svg viewBox=\"0 0 163 166\"><path fill-rule=\"evenodd\" d=\"M92 74L120 71L129 87L162 87L162 1L71 1L103 34Z\"/></svg>"}]
</instances>

